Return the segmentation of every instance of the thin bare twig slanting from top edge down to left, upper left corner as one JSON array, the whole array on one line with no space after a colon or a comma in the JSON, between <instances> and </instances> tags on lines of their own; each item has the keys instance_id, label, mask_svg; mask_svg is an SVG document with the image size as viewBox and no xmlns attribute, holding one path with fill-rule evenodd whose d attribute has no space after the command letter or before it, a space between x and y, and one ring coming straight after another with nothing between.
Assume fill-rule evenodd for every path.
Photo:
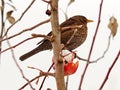
<instances>
[{"instance_id":1,"label":"thin bare twig slanting from top edge down to left, upper left corner","mask_svg":"<svg viewBox=\"0 0 120 90\"><path fill-rule=\"evenodd\" d=\"M29 6L25 9L25 11L21 14L21 16L19 17L19 19L18 19L14 24L12 24L10 27L7 28L7 31L5 32L4 36L6 36L7 33L9 32L9 30L23 18L23 16L24 16L24 15L26 14L26 12L31 8L31 6L33 5L34 2L35 2L35 0L33 0L33 1L29 4ZM3 36L3 37L4 37L4 36Z\"/></svg>"}]
</instances>

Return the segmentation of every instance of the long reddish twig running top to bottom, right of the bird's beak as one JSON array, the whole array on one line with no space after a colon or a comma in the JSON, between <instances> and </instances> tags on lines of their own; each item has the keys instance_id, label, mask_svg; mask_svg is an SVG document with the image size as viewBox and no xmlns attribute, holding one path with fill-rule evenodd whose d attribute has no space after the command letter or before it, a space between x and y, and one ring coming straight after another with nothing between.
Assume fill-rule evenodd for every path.
<instances>
[{"instance_id":1,"label":"long reddish twig running top to bottom, right of the bird's beak","mask_svg":"<svg viewBox=\"0 0 120 90\"><path fill-rule=\"evenodd\" d=\"M101 3L100 3L100 9L99 9L99 16L98 16L98 23L97 23L96 31L95 31L95 34L94 34L94 37L93 37L93 40L92 40L92 44L91 44L91 48L90 48L90 52L89 52L89 56L88 56L88 61L86 63L86 66L85 66L85 69L83 71L83 74L81 76L80 85L79 85L78 90L81 90L81 88L82 88L82 83L83 83L86 71L88 69L88 66L89 66L90 57L91 57L91 54L92 54L93 46L94 46L95 39L96 39L96 36L97 36L98 28L99 28L99 25L100 25L102 5L103 5L103 0L101 0Z\"/></svg>"}]
</instances>

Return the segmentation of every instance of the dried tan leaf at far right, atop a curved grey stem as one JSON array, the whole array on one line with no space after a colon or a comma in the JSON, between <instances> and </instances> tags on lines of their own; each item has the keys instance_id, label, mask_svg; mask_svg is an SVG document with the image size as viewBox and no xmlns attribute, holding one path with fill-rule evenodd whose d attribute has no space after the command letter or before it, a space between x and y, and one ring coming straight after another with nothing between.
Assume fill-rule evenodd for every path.
<instances>
[{"instance_id":1,"label":"dried tan leaf at far right, atop a curved grey stem","mask_svg":"<svg viewBox=\"0 0 120 90\"><path fill-rule=\"evenodd\" d=\"M117 33L117 28L118 28L118 23L117 23L117 19L112 16L109 19L109 24L108 24L108 28L111 30L111 34L113 35L113 37L116 35Z\"/></svg>"}]
</instances>

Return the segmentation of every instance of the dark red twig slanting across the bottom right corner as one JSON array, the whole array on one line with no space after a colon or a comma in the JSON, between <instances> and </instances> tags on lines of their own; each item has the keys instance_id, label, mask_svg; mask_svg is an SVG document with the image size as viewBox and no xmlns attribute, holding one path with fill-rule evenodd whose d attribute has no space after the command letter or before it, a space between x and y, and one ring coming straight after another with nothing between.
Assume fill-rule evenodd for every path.
<instances>
[{"instance_id":1,"label":"dark red twig slanting across the bottom right corner","mask_svg":"<svg viewBox=\"0 0 120 90\"><path fill-rule=\"evenodd\" d=\"M108 70L108 72L107 72L107 75L106 75L105 79L103 80L103 82L102 82L102 84L101 84L99 90L103 90L103 87L104 87L105 83L107 82L107 80L108 80L108 78L109 78L109 75L110 75L110 73L111 73L113 67L115 66L115 64L116 64L116 62L117 62L119 56L120 56L120 50L119 50L119 52L118 52L118 54L117 54L115 60L113 61L112 65L110 66L110 68L109 68L109 70Z\"/></svg>"}]
</instances>

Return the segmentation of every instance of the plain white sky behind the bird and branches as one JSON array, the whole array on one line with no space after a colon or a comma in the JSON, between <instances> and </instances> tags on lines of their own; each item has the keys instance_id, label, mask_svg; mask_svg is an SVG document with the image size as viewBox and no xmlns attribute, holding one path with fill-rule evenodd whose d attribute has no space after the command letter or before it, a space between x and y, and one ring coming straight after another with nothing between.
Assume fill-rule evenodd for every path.
<instances>
[{"instance_id":1,"label":"plain white sky behind the bird and branches","mask_svg":"<svg viewBox=\"0 0 120 90\"><path fill-rule=\"evenodd\" d=\"M32 0L27 0L27 1L12 0L12 1L17 8L17 11L13 13L13 16L17 19L20 17L21 13L24 11L24 9L29 5L29 3ZM101 0L76 0L68 8L68 17L74 16L74 15L84 15L88 19L94 20L93 23L88 24L88 37L86 42L82 46L76 49L77 54L83 58L88 57L92 38L93 38L96 24L97 24L100 1ZM62 10L65 11L67 2L68 0L59 0L59 4L60 4L59 8L61 9L59 14L60 23L65 20ZM35 25L43 20L48 19L49 17L45 15L46 8L47 8L46 3L42 2L41 0L36 0L35 4L28 11L28 13L25 14L23 19L18 24L16 24L15 27L11 29L11 31L9 32L9 35L13 35L25 28L29 28L32 25ZM7 5L6 11L7 10L9 11L11 9L12 8L10 8ZM95 60L96 58L100 57L103 54L104 50L106 49L106 46L108 43L107 42L108 36L110 34L110 30L108 29L107 25L109 22L109 18L111 16L116 17L118 24L120 23L119 0L114 0L114 1L104 0L101 23L99 27L99 32L97 34L97 39L95 41L95 46L93 49L91 60ZM10 24L6 22L6 28L9 25ZM27 32L14 39L11 39L10 41L11 41L11 44L14 45L20 42L21 40L24 40L25 38L30 37L32 33L47 34L50 30L51 30L50 24L48 23L36 28L33 31ZM107 70L109 69L118 51L120 50L119 39L120 39L120 28L118 27L118 32L114 37L114 39L111 39L110 49L105 55L105 57L101 59L98 63L94 63L89 66L87 73L85 75L82 90L98 90L98 88L101 85L101 82L103 81L107 73ZM37 42L39 42L39 40L40 39L30 40L14 49L17 61L21 66L21 68L23 69L25 76L28 77L29 79L37 76L39 72L36 70L28 69L27 66L33 66L43 71L46 71L51 65L52 51L41 52L24 62L21 62L19 60L19 56L36 47L36 44ZM6 42L3 43L3 49L5 48L7 48ZM104 87L104 90L120 90L119 60L116 63L115 67L113 68L110 74L110 77ZM80 77L81 77L81 74L83 73L84 67L85 67L85 62L79 61L79 68L77 72L74 75L70 76L69 78L70 80L69 80L68 90L78 89ZM40 79L40 82L41 81L42 79ZM26 81L22 78L18 68L16 67L11 57L10 51L3 53L1 64L0 64L0 90L8 90L8 89L17 90L22 85L24 85L25 82ZM37 88L36 90L38 90L39 85L34 84L34 87ZM54 78L48 77L45 81L45 84L42 90L46 90L46 88L48 87L51 88L52 90L56 90L56 84L55 84ZM29 86L26 87L24 90L30 90Z\"/></svg>"}]
</instances>

